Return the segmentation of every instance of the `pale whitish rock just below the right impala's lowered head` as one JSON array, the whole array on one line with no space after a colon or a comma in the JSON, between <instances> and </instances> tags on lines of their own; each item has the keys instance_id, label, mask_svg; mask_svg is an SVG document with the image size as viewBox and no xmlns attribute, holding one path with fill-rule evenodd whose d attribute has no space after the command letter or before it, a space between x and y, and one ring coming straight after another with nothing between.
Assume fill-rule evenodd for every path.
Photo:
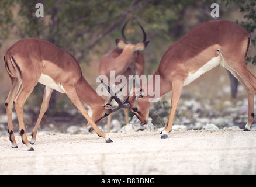
<instances>
[{"instance_id":1,"label":"pale whitish rock just below the right impala's lowered head","mask_svg":"<svg viewBox=\"0 0 256 187\"><path fill-rule=\"evenodd\" d=\"M134 115L130 123L123 126L122 129L119 130L119 133L125 132L137 132L137 131L154 131L154 124L152 123L152 119L148 119L148 124L143 125L140 120Z\"/></svg>"}]
</instances>

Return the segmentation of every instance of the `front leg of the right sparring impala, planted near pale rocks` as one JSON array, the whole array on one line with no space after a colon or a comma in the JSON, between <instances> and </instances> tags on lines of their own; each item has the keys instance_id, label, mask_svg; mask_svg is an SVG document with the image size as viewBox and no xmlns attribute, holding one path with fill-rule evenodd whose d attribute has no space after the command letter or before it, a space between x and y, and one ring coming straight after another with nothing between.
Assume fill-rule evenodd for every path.
<instances>
[{"instance_id":1,"label":"front leg of the right sparring impala, planted near pale rocks","mask_svg":"<svg viewBox=\"0 0 256 187\"><path fill-rule=\"evenodd\" d=\"M172 82L171 111L169 113L169 118L167 124L165 125L165 129L161 132L161 139L166 139L168 137L168 133L172 130L172 123L174 121L175 112L181 96L183 83L184 81L180 80Z\"/></svg>"}]
</instances>

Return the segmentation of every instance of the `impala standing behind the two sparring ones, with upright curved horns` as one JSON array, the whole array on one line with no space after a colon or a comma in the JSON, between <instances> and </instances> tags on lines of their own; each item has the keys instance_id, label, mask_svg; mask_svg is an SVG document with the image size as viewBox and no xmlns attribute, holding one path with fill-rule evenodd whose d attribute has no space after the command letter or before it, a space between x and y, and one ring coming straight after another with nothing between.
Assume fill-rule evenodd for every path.
<instances>
[{"instance_id":1,"label":"impala standing behind the two sparring ones, with upright curved horns","mask_svg":"<svg viewBox=\"0 0 256 187\"><path fill-rule=\"evenodd\" d=\"M127 22L129 22L129 20L127 20ZM127 25L127 22L124 23L121 32L124 41L116 39L116 49L111 50L109 53L102 56L101 62L99 64L99 75L105 75L108 77L108 80L111 78L115 79L115 77L118 75L124 75L128 80L129 75L141 76L144 74L144 56L140 51L145 49L149 41L146 41L146 32L140 23L137 22L143 32L143 40L141 40L136 45L131 44L129 39L127 39L124 34L124 29ZM114 77L111 77L110 71L115 72ZM115 84L118 85L119 83L115 82ZM124 114L126 116L126 123L129 123L128 110L124 110ZM108 116L107 132L110 131L110 120L111 115Z\"/></svg>"}]
</instances>

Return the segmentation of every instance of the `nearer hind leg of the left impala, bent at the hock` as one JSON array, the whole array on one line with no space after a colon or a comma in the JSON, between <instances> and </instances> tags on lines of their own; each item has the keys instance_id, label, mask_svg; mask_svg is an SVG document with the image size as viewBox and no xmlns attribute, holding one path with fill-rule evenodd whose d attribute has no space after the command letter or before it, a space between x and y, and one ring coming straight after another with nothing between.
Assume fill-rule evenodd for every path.
<instances>
[{"instance_id":1,"label":"nearer hind leg of the left impala, bent at the hock","mask_svg":"<svg viewBox=\"0 0 256 187\"><path fill-rule=\"evenodd\" d=\"M34 84L33 82L30 82L30 84L26 84L26 82L23 82L22 88L20 89L18 96L14 100L15 110L18 115L20 136L22 137L22 143L27 146L28 151L34 151L34 149L29 143L29 140L27 140L27 134L26 134L25 124L23 119L23 106L25 101L29 97L30 93L33 91L34 86L36 86L36 84L37 84L37 81L34 82Z\"/></svg>"}]
</instances>

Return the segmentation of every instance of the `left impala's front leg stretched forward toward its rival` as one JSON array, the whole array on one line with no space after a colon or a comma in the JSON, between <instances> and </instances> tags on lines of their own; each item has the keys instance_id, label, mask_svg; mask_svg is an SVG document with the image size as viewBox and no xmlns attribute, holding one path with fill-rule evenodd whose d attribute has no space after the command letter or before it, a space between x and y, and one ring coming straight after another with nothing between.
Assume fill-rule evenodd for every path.
<instances>
[{"instance_id":1,"label":"left impala's front leg stretched forward toward its rival","mask_svg":"<svg viewBox=\"0 0 256 187\"><path fill-rule=\"evenodd\" d=\"M98 134L99 137L105 138L105 141L107 143L112 142L112 140L99 129L99 127L94 123L94 121L91 119L91 117L88 115L87 110L84 108L84 105L82 105L82 102L77 96L77 92L75 91L74 86L64 86L65 93L67 93L68 98L74 103L74 105L77 107L79 112L87 119L88 123L91 124L92 128L95 130L95 132Z\"/></svg>"}]
</instances>

